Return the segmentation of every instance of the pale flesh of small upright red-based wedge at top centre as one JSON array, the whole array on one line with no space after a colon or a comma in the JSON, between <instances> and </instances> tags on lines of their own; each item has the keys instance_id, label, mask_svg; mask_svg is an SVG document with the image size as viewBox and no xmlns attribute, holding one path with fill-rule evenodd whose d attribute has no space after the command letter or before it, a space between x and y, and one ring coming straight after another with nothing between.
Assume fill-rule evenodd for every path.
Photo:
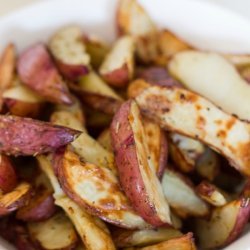
<instances>
[{"instance_id":1,"label":"pale flesh of small upright red-based wedge at top centre","mask_svg":"<svg viewBox=\"0 0 250 250\"><path fill-rule=\"evenodd\" d=\"M128 67L129 79L133 76L134 71L134 41L130 36L119 38L114 44L113 49L104 59L100 68L100 74L105 75L113 70L120 69L124 65Z\"/></svg>"}]
</instances>

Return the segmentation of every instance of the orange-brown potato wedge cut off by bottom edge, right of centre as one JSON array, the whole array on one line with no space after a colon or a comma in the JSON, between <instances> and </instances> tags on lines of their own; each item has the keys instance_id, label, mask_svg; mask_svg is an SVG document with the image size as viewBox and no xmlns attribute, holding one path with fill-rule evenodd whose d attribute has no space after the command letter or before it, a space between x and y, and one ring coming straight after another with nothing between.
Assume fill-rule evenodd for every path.
<instances>
[{"instance_id":1,"label":"orange-brown potato wedge cut off by bottom edge, right of centre","mask_svg":"<svg viewBox=\"0 0 250 250\"><path fill-rule=\"evenodd\" d=\"M193 234L187 233L183 236L163 241L161 243L135 248L135 250L196 250Z\"/></svg>"}]
</instances>

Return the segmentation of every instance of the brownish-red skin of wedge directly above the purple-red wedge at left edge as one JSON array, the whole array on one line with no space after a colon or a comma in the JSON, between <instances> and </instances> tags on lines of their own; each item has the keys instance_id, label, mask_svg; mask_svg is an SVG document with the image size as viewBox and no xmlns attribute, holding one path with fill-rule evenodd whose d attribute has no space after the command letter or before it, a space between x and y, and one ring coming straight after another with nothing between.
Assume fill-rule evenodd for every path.
<instances>
[{"instance_id":1,"label":"brownish-red skin of wedge directly above the purple-red wedge at left edge","mask_svg":"<svg viewBox=\"0 0 250 250\"><path fill-rule=\"evenodd\" d=\"M4 104L12 115L21 117L39 117L44 105L43 103L30 103L12 98L4 98Z\"/></svg>"}]
</instances>

